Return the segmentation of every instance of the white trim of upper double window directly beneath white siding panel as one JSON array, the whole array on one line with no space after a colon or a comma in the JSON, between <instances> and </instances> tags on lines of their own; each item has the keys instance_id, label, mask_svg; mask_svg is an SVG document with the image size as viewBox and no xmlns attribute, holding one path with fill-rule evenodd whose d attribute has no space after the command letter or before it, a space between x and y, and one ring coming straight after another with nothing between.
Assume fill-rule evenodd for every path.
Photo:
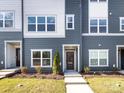
<instances>
[{"instance_id":1,"label":"white trim of upper double window directly beneath white siding panel","mask_svg":"<svg viewBox=\"0 0 124 93\"><path fill-rule=\"evenodd\" d=\"M97 33L91 33L91 29L90 29L90 20L91 19L96 19L97 20ZM106 33L100 33L99 32L99 27L100 27L100 25L99 25L99 20L101 20L101 19L105 19L106 20ZM108 34L108 18L89 18L89 34Z\"/></svg>"}]
</instances>

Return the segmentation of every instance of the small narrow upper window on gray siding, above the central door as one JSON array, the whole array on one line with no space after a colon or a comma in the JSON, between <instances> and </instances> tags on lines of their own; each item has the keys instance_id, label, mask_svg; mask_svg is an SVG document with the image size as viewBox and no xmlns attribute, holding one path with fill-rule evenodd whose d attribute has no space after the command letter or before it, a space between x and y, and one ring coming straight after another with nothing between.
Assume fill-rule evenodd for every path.
<instances>
[{"instance_id":1,"label":"small narrow upper window on gray siding, above the central door","mask_svg":"<svg viewBox=\"0 0 124 93\"><path fill-rule=\"evenodd\" d=\"M66 29L74 30L74 15L66 15Z\"/></svg>"}]
</instances>

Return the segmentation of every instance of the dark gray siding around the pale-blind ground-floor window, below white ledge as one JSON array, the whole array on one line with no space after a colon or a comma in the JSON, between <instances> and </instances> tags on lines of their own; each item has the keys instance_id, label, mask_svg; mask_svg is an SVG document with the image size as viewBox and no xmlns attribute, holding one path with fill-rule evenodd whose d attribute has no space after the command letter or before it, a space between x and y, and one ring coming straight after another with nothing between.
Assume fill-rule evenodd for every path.
<instances>
[{"instance_id":1,"label":"dark gray siding around the pale-blind ground-floor window, below white ledge","mask_svg":"<svg viewBox=\"0 0 124 93\"><path fill-rule=\"evenodd\" d=\"M113 64L116 64L116 45L124 45L124 37L83 37L82 42L84 66L89 66L89 49L109 49L109 67L94 67L92 70L112 70Z\"/></svg>"}]
</instances>

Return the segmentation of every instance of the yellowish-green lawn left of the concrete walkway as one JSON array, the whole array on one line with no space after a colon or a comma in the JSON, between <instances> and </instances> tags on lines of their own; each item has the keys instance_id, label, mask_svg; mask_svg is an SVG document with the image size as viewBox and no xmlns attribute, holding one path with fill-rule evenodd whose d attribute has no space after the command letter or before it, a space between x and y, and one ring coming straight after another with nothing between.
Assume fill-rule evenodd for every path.
<instances>
[{"instance_id":1,"label":"yellowish-green lawn left of the concrete walkway","mask_svg":"<svg viewBox=\"0 0 124 93\"><path fill-rule=\"evenodd\" d=\"M63 80L2 79L0 93L65 93L65 86Z\"/></svg>"}]
</instances>

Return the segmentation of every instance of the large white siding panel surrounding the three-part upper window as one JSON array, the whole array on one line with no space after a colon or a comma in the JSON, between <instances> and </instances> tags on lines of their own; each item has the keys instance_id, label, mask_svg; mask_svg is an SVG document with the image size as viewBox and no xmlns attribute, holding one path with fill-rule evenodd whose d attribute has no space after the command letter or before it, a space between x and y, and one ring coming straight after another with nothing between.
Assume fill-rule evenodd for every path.
<instances>
[{"instance_id":1,"label":"large white siding panel surrounding the three-part upper window","mask_svg":"<svg viewBox=\"0 0 124 93\"><path fill-rule=\"evenodd\" d=\"M27 17L56 15L56 32L28 32ZM24 0L24 37L54 38L65 37L65 0Z\"/></svg>"}]
</instances>

